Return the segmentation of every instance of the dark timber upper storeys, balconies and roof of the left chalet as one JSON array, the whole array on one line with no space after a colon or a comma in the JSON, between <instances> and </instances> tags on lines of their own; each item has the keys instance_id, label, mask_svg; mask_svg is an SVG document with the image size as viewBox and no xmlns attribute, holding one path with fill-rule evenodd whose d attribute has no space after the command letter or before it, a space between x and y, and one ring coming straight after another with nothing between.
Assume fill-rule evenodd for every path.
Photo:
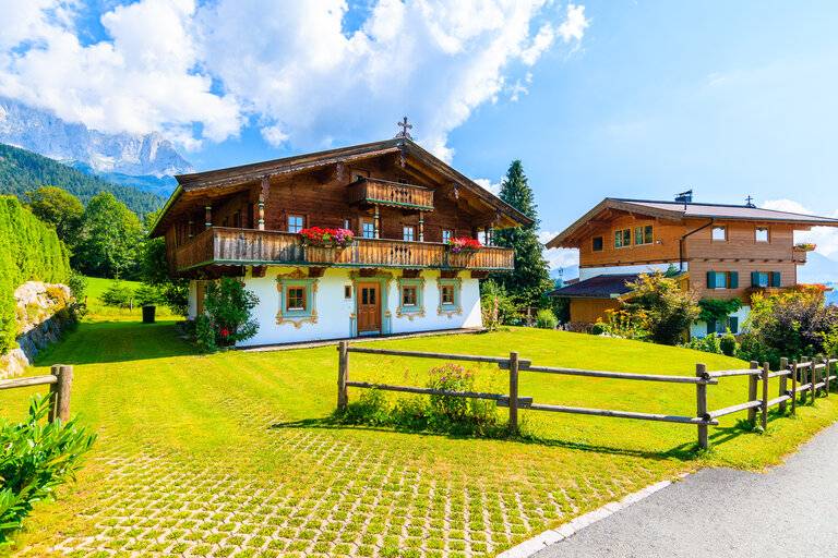
<instances>
[{"instance_id":1,"label":"dark timber upper storeys, balconies and roof of the left chalet","mask_svg":"<svg viewBox=\"0 0 838 558\"><path fill-rule=\"evenodd\" d=\"M285 264L512 270L510 250L456 255L444 242L490 243L492 230L529 222L405 138L178 180L152 234L165 236L171 272L190 277ZM308 227L350 229L356 241L306 250L297 233Z\"/></svg>"}]
</instances>

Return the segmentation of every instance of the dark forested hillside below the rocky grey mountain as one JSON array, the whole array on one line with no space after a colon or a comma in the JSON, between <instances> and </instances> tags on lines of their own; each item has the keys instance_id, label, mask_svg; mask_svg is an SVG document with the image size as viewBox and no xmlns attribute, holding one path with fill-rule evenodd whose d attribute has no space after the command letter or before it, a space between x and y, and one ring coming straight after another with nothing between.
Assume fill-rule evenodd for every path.
<instances>
[{"instance_id":1,"label":"dark forested hillside below the rocky grey mountain","mask_svg":"<svg viewBox=\"0 0 838 558\"><path fill-rule=\"evenodd\" d=\"M0 144L0 194L23 198L27 192L55 184L76 196L83 204L100 192L110 192L132 211L147 214L164 199L131 186L111 184L40 155Z\"/></svg>"}]
</instances>

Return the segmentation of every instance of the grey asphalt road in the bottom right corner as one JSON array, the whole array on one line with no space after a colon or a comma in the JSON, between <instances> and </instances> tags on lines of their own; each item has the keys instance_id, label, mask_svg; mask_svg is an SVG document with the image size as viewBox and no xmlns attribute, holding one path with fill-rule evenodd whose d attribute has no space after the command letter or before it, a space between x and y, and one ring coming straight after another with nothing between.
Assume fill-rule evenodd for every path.
<instances>
[{"instance_id":1,"label":"grey asphalt road in the bottom right corner","mask_svg":"<svg viewBox=\"0 0 838 558\"><path fill-rule=\"evenodd\" d=\"M767 473L699 471L535 556L836 558L838 424Z\"/></svg>"}]
</instances>

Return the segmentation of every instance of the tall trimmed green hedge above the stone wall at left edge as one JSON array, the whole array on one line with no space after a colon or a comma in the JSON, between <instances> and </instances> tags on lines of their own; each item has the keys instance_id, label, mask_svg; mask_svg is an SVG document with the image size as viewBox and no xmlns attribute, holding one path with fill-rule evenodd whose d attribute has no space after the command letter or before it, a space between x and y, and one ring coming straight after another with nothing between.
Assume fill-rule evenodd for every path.
<instances>
[{"instance_id":1,"label":"tall trimmed green hedge above the stone wall at left edge","mask_svg":"<svg viewBox=\"0 0 838 558\"><path fill-rule=\"evenodd\" d=\"M0 354L14 348L17 335L14 290L29 280L64 282L69 275L67 248L55 229L16 197L0 196Z\"/></svg>"}]
</instances>

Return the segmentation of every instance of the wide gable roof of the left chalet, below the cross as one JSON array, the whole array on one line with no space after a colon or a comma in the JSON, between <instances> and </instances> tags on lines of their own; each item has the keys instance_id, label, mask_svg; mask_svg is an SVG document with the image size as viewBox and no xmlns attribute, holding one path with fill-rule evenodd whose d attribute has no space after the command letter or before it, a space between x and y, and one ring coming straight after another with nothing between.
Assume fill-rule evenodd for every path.
<instances>
[{"instance_id":1,"label":"wide gable roof of the left chalet, below the cross","mask_svg":"<svg viewBox=\"0 0 838 558\"><path fill-rule=\"evenodd\" d=\"M532 220L522 214L501 198L487 191L475 181L460 173L443 160L436 158L431 153L420 147L412 140L404 137L394 137L381 142L368 144L351 145L324 151L315 151L282 159L273 159L263 162L254 162L230 167L226 169L216 169L204 172L193 172L190 174L178 174L175 178L178 186L166 202L157 222L152 228L149 236L163 234L163 223L166 216L177 205L179 198L184 194L199 195L208 194L225 187L236 186L243 183L251 183L262 180L264 177L288 175L337 163L354 163L366 159L372 159L388 154L403 153L420 161L426 167L456 182L465 190L472 193L483 203L494 208L499 214L506 217L507 220L516 225L531 225Z\"/></svg>"}]
</instances>

